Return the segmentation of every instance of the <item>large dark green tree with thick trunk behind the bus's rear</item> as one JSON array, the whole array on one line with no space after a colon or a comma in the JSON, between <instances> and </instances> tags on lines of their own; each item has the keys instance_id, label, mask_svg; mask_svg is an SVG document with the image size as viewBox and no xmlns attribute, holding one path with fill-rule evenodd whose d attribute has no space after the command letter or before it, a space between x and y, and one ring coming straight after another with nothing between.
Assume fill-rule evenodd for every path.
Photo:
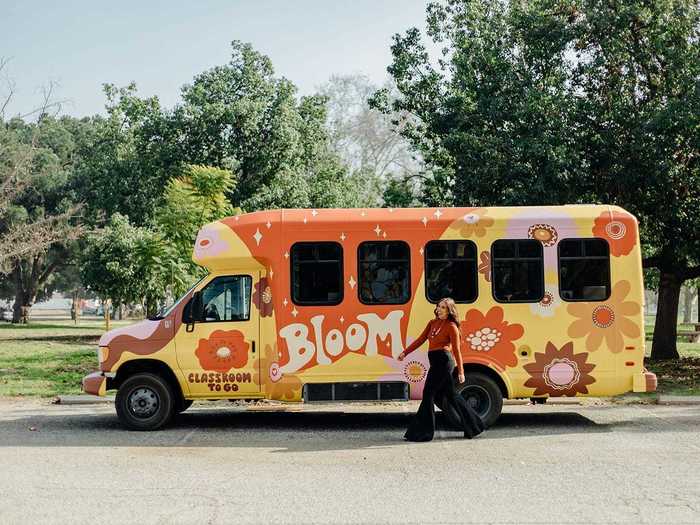
<instances>
[{"instance_id":1,"label":"large dark green tree with thick trunk behind the bus's rear","mask_svg":"<svg viewBox=\"0 0 700 525\"><path fill-rule=\"evenodd\" d=\"M680 284L700 275L700 6L689 0L449 0L397 35L402 134L458 205L619 204L660 270L653 358L677 357ZM439 170L439 171L438 171ZM440 184L434 185L440 186Z\"/></svg>"}]
</instances>

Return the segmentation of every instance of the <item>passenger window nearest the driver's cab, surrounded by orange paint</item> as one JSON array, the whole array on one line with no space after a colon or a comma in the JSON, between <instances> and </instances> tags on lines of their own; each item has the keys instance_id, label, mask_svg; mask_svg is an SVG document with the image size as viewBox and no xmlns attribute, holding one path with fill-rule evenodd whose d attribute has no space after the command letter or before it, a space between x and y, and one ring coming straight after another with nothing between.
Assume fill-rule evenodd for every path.
<instances>
[{"instance_id":1,"label":"passenger window nearest the driver's cab, surrounded by orange paint","mask_svg":"<svg viewBox=\"0 0 700 525\"><path fill-rule=\"evenodd\" d=\"M343 300L343 247L337 242L298 242L292 246L292 301L334 305Z\"/></svg>"}]
</instances>

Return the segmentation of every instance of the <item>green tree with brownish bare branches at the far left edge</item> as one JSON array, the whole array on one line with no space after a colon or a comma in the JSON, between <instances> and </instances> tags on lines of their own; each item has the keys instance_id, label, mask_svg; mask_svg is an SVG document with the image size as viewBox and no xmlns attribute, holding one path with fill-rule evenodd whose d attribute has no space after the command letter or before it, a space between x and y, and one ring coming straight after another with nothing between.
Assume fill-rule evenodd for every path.
<instances>
[{"instance_id":1,"label":"green tree with brownish bare branches at the far left edge","mask_svg":"<svg viewBox=\"0 0 700 525\"><path fill-rule=\"evenodd\" d=\"M0 273L13 288L13 322L27 322L83 232L72 178L75 137L86 126L45 113L0 123Z\"/></svg>"}]
</instances>

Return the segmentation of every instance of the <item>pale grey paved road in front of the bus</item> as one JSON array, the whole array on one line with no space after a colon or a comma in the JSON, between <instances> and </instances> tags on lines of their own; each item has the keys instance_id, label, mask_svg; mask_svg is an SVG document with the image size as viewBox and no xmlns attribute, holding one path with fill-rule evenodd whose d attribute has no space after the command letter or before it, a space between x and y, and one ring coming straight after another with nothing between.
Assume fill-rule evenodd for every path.
<instances>
[{"instance_id":1,"label":"pale grey paved road in front of the bus","mask_svg":"<svg viewBox=\"0 0 700 525\"><path fill-rule=\"evenodd\" d=\"M415 407L196 405L139 433L0 401L0 523L700 523L697 405L509 406L409 444Z\"/></svg>"}]
</instances>

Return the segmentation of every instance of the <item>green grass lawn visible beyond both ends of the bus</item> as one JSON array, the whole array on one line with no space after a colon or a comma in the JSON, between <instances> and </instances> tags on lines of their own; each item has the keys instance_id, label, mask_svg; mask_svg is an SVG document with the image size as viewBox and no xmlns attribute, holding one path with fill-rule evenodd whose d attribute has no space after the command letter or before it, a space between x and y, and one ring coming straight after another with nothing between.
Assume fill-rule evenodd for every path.
<instances>
[{"instance_id":1,"label":"green grass lawn visible beyond both ends of the bus","mask_svg":"<svg viewBox=\"0 0 700 525\"><path fill-rule=\"evenodd\" d=\"M111 327L133 322L115 321ZM649 341L653 329L653 324L647 326ZM0 323L0 396L79 394L83 376L97 369L97 340L103 333L104 322L98 320L81 320L79 325L72 321ZM679 342L678 352L677 361L647 360L647 368L659 379L658 391L700 395L700 343Z\"/></svg>"}]
</instances>

